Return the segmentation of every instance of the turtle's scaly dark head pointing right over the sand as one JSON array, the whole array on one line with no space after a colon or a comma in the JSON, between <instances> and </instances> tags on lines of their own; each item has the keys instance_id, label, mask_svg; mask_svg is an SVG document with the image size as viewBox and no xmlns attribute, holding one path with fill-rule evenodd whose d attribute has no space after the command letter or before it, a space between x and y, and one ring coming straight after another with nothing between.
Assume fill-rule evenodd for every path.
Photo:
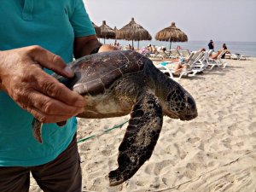
<instances>
[{"instance_id":1,"label":"turtle's scaly dark head pointing right over the sand","mask_svg":"<svg viewBox=\"0 0 256 192\"><path fill-rule=\"evenodd\" d=\"M194 98L182 86L172 86L166 91L164 113L173 119L190 120L197 117Z\"/></svg>"}]
</instances>

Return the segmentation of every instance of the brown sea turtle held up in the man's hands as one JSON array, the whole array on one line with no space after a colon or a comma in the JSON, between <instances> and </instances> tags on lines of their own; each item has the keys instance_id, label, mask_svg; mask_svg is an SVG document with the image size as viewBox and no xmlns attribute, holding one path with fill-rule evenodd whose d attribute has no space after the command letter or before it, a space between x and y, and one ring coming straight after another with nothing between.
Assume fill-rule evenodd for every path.
<instances>
[{"instance_id":1,"label":"brown sea turtle held up in the man's hands","mask_svg":"<svg viewBox=\"0 0 256 192\"><path fill-rule=\"evenodd\" d=\"M183 87L161 73L152 61L134 51L112 51L84 56L70 65L73 79L54 75L84 96L80 118L102 119L131 113L119 146L119 167L109 172L109 184L131 178L153 153L163 115L190 120L197 116L195 100ZM37 120L33 131L41 141Z\"/></svg>"}]
</instances>

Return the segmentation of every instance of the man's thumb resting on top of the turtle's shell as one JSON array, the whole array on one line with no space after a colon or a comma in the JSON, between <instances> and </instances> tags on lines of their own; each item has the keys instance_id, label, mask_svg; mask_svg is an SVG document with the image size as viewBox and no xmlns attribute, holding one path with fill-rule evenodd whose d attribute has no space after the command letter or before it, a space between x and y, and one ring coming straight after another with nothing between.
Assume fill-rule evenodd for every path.
<instances>
[{"instance_id":1,"label":"man's thumb resting on top of the turtle's shell","mask_svg":"<svg viewBox=\"0 0 256 192\"><path fill-rule=\"evenodd\" d=\"M73 77L73 71L67 67L66 63L59 55L55 55L49 52L49 50L37 45L27 47L27 49L29 49L28 55L32 57L33 61L38 62L41 66L46 67L64 77Z\"/></svg>"}]
</instances>

